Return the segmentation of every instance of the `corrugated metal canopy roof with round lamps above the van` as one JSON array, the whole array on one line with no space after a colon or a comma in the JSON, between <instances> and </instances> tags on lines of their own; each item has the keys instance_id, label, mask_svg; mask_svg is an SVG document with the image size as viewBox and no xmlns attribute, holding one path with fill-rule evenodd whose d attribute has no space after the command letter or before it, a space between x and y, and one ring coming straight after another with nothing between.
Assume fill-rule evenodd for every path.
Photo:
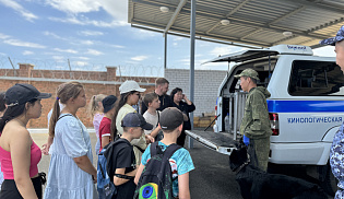
<instances>
[{"instance_id":1,"label":"corrugated metal canopy roof with round lamps above the van","mask_svg":"<svg viewBox=\"0 0 344 199\"><path fill-rule=\"evenodd\" d=\"M129 0L128 21L134 27L189 36L190 10L190 0ZM195 37L257 47L316 48L320 39L336 34L344 24L343 14L344 0L197 0ZM222 25L222 20L230 23Z\"/></svg>"}]
</instances>

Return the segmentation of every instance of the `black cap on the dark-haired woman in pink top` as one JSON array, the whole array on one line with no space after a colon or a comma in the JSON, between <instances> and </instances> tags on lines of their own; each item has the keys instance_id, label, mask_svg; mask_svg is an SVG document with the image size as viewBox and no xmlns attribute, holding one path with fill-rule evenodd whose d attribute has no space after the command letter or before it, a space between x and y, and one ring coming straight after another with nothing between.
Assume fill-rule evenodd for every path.
<instances>
[{"instance_id":1,"label":"black cap on the dark-haired woman in pink top","mask_svg":"<svg viewBox=\"0 0 344 199\"><path fill-rule=\"evenodd\" d=\"M9 107L25 104L34 98L49 98L50 96L50 93L40 93L35 86L26 83L17 83L4 94Z\"/></svg>"}]
</instances>

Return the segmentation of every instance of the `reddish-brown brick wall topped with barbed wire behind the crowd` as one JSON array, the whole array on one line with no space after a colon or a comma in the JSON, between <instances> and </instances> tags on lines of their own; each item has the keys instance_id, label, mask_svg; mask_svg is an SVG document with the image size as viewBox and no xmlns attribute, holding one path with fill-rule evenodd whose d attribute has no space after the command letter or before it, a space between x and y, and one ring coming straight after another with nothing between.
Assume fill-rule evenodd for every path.
<instances>
[{"instance_id":1,"label":"reddish-brown brick wall topped with barbed wire behind the crowd","mask_svg":"<svg viewBox=\"0 0 344 199\"><path fill-rule=\"evenodd\" d=\"M44 77L44 78L43 78ZM141 87L145 87L146 92L154 91L155 79L146 77L117 77L115 67L107 67L106 72L102 71L51 71L51 70L34 70L33 65L20 63L20 69L0 69L0 91L7 91L15 83L33 84L39 92L51 93L52 97L43 99L43 112L38 119L32 119L28 128L47 128L47 115L52 108L56 99L56 89L58 85L69 81L80 81L86 92L87 104L90 98L96 94L119 96L118 87L126 80L135 80ZM92 118L86 114L86 108L78 112L78 117L86 127L93 127Z\"/></svg>"}]
</instances>

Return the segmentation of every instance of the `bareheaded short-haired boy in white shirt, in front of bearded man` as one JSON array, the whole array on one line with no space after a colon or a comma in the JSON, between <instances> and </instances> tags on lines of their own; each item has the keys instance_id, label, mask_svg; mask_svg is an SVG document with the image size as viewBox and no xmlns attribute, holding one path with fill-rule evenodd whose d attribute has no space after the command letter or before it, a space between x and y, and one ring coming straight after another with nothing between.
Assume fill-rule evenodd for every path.
<instances>
[{"instance_id":1,"label":"bareheaded short-haired boy in white shirt, in front of bearded man","mask_svg":"<svg viewBox=\"0 0 344 199\"><path fill-rule=\"evenodd\" d=\"M144 133L153 137L155 141L159 141L163 139L164 134L161 132L162 129L158 127L158 118L161 114L161 112L156 110L161 107L158 95L156 93L147 93L143 97L143 103L146 107L149 107L149 109L143 114L143 117L149 124L153 125L153 129L145 130Z\"/></svg>"}]
</instances>

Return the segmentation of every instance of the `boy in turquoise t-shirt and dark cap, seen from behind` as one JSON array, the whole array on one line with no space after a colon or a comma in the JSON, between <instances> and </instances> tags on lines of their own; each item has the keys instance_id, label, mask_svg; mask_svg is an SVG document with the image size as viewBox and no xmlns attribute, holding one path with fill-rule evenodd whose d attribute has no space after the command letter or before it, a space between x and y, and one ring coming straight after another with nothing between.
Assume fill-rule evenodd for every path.
<instances>
[{"instance_id":1,"label":"boy in turquoise t-shirt and dark cap, seen from behind","mask_svg":"<svg viewBox=\"0 0 344 199\"><path fill-rule=\"evenodd\" d=\"M159 116L159 128L163 129L164 138L158 142L163 151L173 143L177 143L177 138L180 136L182 130L182 124L187 116L185 116L177 108L166 108L162 112ZM151 159L151 148L147 147L142 155L141 165L139 166L138 173L135 175L135 184L139 183L140 176L144 166ZM173 177L178 177L173 182L173 195L175 198L179 199L190 199L189 189L189 172L194 169L189 151L185 148L177 150L173 156L169 159L169 164L173 172Z\"/></svg>"}]
</instances>

